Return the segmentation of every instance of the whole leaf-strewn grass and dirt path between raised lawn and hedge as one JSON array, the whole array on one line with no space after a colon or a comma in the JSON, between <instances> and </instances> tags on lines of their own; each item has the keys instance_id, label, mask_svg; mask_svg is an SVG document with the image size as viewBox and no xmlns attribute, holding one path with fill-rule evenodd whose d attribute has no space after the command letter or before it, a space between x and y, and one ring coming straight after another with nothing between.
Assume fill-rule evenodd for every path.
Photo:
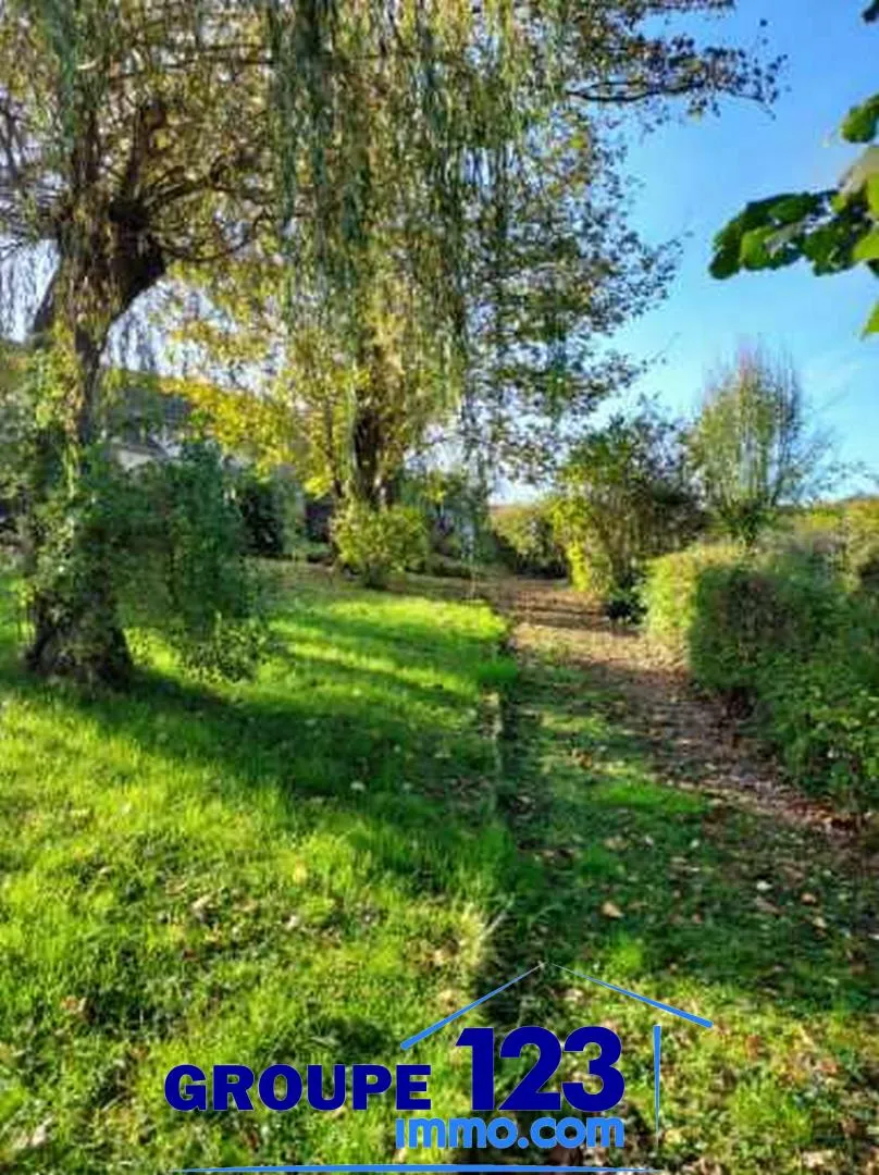
<instances>
[{"instance_id":1,"label":"whole leaf-strewn grass and dirt path between raised lawn and hedge","mask_svg":"<svg viewBox=\"0 0 879 1175\"><path fill-rule=\"evenodd\" d=\"M784 786L675 665L575 592L472 586L510 618L519 666L501 691L494 811L514 851L477 987L544 964L492 1001L496 1029L617 1032L632 1074L630 1163L879 1175L879 868L865 841ZM652 1021L586 976L713 1021L711 1033L665 1025L658 1143L636 1077L651 1072ZM606 1166L618 1154L548 1159Z\"/></svg>"}]
</instances>

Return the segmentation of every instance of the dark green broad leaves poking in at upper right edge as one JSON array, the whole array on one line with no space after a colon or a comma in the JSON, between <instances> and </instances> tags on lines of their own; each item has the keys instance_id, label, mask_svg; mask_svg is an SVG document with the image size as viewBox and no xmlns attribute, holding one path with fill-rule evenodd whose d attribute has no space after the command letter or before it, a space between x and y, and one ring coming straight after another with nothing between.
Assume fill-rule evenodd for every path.
<instances>
[{"instance_id":1,"label":"dark green broad leaves poking in at upper right edge","mask_svg":"<svg viewBox=\"0 0 879 1175\"><path fill-rule=\"evenodd\" d=\"M879 20L879 8L872 5L864 16ZM780 269L800 260L818 276L866 266L879 277L879 94L853 107L839 133L846 142L866 147L837 187L749 203L714 239L714 277ZM879 302L864 335L877 331Z\"/></svg>"}]
</instances>

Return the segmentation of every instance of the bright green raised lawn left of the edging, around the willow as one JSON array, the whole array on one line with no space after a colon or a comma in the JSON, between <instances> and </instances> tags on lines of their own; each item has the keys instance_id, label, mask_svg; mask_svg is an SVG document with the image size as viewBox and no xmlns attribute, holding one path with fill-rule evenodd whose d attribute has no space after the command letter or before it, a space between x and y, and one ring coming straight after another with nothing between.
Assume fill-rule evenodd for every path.
<instances>
[{"instance_id":1,"label":"bright green raised lawn left of the edging, around the willow","mask_svg":"<svg viewBox=\"0 0 879 1175\"><path fill-rule=\"evenodd\" d=\"M429 1061L400 1041L470 998L504 857L481 604L284 592L254 683L161 650L132 696L18 672L4 617L0 1168L162 1171L380 1160L365 1114L181 1114L176 1063Z\"/></svg>"}]
</instances>

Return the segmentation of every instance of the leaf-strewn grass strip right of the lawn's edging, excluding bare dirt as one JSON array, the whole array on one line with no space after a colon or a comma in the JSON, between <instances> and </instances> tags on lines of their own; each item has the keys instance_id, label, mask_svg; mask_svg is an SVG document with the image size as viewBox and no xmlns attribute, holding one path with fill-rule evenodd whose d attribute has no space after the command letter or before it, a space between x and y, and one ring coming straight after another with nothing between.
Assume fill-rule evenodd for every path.
<instances>
[{"instance_id":1,"label":"leaf-strewn grass strip right of the lawn's edging, excluding bare dirt","mask_svg":"<svg viewBox=\"0 0 879 1175\"><path fill-rule=\"evenodd\" d=\"M529 1015L559 1034L582 1022L620 1034L628 1161L698 1175L878 1169L874 864L781 812L670 786L626 730L622 693L562 647L525 638L505 756L510 832L539 861L519 907L528 936L508 932L512 973L542 952L714 1028L570 974L544 973ZM659 1150L653 1022L664 1027Z\"/></svg>"}]
</instances>

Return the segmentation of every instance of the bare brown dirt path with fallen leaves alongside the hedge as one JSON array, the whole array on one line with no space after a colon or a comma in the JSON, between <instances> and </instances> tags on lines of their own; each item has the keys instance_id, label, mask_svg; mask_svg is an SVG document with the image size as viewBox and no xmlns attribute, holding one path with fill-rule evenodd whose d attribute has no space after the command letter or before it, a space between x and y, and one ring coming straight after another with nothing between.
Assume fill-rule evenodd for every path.
<instances>
[{"instance_id":1,"label":"bare brown dirt path with fallen leaves alongside the hedge","mask_svg":"<svg viewBox=\"0 0 879 1175\"><path fill-rule=\"evenodd\" d=\"M549 656L606 690L612 717L646 744L665 783L820 830L837 842L853 835L850 819L786 786L740 725L643 634L612 625L582 596L552 584L502 580L490 596L514 622L519 659Z\"/></svg>"}]
</instances>

